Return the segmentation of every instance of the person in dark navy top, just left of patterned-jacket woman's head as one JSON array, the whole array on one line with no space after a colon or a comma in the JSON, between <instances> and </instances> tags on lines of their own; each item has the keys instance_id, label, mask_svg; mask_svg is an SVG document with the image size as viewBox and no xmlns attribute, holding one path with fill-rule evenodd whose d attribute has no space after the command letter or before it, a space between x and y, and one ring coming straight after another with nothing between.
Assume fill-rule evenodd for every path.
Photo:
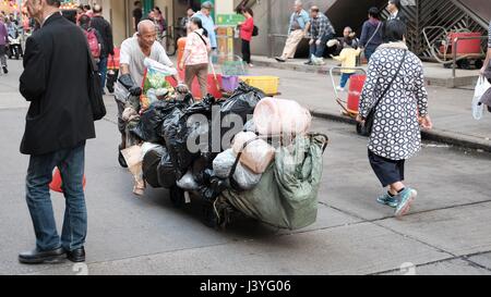
<instances>
[{"instance_id":1,"label":"person in dark navy top, just left of patterned-jacket woman's head","mask_svg":"<svg viewBox=\"0 0 491 297\"><path fill-rule=\"evenodd\" d=\"M370 61L370 58L375 52L376 48L382 45L382 26L380 21L379 9L371 8L368 12L369 20L363 23L360 37L360 46L363 48L364 58Z\"/></svg>"}]
</instances>

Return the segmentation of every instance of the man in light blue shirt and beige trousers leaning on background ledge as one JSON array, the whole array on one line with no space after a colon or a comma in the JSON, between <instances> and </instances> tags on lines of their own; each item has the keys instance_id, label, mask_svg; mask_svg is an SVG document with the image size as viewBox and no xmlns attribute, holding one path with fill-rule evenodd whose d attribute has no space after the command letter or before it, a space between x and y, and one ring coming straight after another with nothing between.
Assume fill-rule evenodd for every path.
<instances>
[{"instance_id":1,"label":"man in light blue shirt and beige trousers leaning on background ledge","mask_svg":"<svg viewBox=\"0 0 491 297\"><path fill-rule=\"evenodd\" d=\"M294 13L290 16L288 26L288 38L280 57L275 57L278 62L286 62L294 59L298 45L307 36L310 26L309 13L303 10L302 1L295 1Z\"/></svg>"}]
</instances>

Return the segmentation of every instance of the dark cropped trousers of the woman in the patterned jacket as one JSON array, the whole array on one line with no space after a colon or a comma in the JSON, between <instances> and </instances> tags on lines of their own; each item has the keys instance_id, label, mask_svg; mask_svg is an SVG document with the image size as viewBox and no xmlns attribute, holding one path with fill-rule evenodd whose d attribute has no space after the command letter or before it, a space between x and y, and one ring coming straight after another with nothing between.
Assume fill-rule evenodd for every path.
<instances>
[{"instance_id":1,"label":"dark cropped trousers of the woman in the patterned jacket","mask_svg":"<svg viewBox=\"0 0 491 297\"><path fill-rule=\"evenodd\" d=\"M383 187L404 181L404 165L406 160L390 160L376 156L369 150L369 161Z\"/></svg>"}]
</instances>

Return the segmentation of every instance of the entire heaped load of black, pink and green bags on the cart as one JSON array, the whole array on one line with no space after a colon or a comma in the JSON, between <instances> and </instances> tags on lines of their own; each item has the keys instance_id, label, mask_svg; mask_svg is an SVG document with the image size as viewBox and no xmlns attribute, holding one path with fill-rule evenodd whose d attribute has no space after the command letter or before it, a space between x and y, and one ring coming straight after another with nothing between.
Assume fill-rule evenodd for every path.
<instances>
[{"instance_id":1,"label":"entire heaped load of black, pink and green bags on the cart","mask_svg":"<svg viewBox=\"0 0 491 297\"><path fill-rule=\"evenodd\" d=\"M310 133L307 109L244 83L227 99L196 102L159 97L170 88L156 82L146 94L153 84L145 108L125 111L133 144L122 154L135 194L149 185L169 189L177 207L202 199L209 226L235 212L289 230L315 222L327 137Z\"/></svg>"}]
</instances>

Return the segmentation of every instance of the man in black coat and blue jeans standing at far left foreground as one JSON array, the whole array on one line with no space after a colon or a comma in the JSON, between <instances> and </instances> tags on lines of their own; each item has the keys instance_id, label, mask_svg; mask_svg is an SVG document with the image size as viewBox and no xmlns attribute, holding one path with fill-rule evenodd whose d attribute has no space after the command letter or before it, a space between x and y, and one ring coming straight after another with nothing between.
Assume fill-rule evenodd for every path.
<instances>
[{"instance_id":1,"label":"man in black coat and blue jeans standing at far left foreground","mask_svg":"<svg viewBox=\"0 0 491 297\"><path fill-rule=\"evenodd\" d=\"M86 139L95 138L88 97L87 41L65 20L59 0L27 0L40 28L27 39L21 94L31 102L21 152L29 154L26 200L36 234L36 249L21 252L22 263L43 263L68 256L85 260L87 214L83 190ZM58 168L67 200L61 238L49 195Z\"/></svg>"}]
</instances>

